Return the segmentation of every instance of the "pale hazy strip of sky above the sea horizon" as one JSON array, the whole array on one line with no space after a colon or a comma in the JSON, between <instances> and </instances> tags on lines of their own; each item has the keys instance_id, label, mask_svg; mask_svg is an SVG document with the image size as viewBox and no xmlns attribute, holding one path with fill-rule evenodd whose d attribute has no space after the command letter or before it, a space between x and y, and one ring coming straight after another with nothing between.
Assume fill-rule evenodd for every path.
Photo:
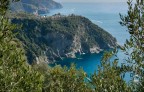
<instances>
[{"instance_id":1,"label":"pale hazy strip of sky above the sea horizon","mask_svg":"<svg viewBox=\"0 0 144 92\"><path fill-rule=\"evenodd\" d=\"M57 2L126 2L127 0L54 0Z\"/></svg>"}]
</instances>

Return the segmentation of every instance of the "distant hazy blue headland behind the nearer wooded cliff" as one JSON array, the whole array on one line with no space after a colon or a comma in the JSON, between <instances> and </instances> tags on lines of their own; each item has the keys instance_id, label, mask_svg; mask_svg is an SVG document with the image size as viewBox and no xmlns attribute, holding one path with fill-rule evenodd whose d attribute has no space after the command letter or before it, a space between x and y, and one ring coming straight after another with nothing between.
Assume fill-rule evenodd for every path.
<instances>
[{"instance_id":1,"label":"distant hazy blue headland behind the nearer wooded cliff","mask_svg":"<svg viewBox=\"0 0 144 92\"><path fill-rule=\"evenodd\" d=\"M21 0L11 4L12 11L34 14L45 14L48 13L50 9L57 8L62 8L62 5L53 0Z\"/></svg>"}]
</instances>

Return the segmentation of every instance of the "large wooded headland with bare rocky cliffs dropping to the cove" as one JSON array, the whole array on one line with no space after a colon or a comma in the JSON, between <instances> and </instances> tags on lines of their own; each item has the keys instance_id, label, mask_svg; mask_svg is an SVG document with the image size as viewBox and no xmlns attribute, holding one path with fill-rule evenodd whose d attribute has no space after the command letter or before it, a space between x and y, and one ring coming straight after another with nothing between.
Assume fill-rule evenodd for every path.
<instances>
[{"instance_id":1,"label":"large wooded headland with bare rocky cliffs dropping to the cove","mask_svg":"<svg viewBox=\"0 0 144 92\"><path fill-rule=\"evenodd\" d=\"M99 53L115 47L116 39L87 18L55 15L40 19L13 19L23 24L17 36L30 61L46 56L49 62L79 53ZM33 57L33 58L32 58Z\"/></svg>"}]
</instances>

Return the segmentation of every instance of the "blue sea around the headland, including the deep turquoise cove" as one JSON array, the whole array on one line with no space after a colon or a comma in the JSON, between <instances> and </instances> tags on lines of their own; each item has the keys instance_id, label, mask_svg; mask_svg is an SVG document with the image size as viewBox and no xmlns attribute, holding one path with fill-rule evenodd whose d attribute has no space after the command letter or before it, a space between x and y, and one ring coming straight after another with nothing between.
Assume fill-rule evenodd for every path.
<instances>
[{"instance_id":1,"label":"blue sea around the headland, including the deep turquoise cove","mask_svg":"<svg viewBox=\"0 0 144 92\"><path fill-rule=\"evenodd\" d=\"M124 45L126 39L129 39L129 34L126 27L120 25L119 14L127 14L127 4L126 3L61 3L63 8L51 10L47 16L51 16L57 13L62 15L81 15L89 20L91 20L96 25L100 26L110 34L112 34L116 39L118 44ZM70 67L71 63L75 63L76 67L82 68L87 74L91 75L97 72L98 65L102 59L104 52L98 54L85 54L78 58L67 58L52 64ZM124 63L126 58L124 53L119 49L118 54L119 65ZM129 74L129 73L128 73ZM128 76L127 74L127 76ZM129 77L125 77L125 80L129 80Z\"/></svg>"}]
</instances>

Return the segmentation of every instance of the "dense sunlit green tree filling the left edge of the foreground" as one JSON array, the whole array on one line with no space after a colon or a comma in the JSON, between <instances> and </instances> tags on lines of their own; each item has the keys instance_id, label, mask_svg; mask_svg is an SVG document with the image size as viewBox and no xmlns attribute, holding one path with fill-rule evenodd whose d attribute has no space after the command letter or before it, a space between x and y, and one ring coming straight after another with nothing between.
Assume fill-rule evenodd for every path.
<instances>
[{"instance_id":1,"label":"dense sunlit green tree filling the left edge of the foreground","mask_svg":"<svg viewBox=\"0 0 144 92\"><path fill-rule=\"evenodd\" d=\"M42 91L43 76L27 64L22 45L13 33L18 26L5 17L10 2L0 0L0 91Z\"/></svg>"}]
</instances>

